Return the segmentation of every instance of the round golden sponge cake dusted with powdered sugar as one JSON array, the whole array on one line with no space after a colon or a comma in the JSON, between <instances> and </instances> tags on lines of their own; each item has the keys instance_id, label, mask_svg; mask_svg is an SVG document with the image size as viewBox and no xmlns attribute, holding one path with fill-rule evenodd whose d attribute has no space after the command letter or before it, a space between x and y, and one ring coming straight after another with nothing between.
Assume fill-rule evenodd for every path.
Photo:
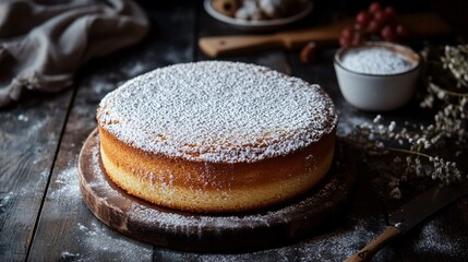
<instances>
[{"instance_id":1,"label":"round golden sponge cake dusted with powdered sugar","mask_svg":"<svg viewBox=\"0 0 468 262\"><path fill-rule=\"evenodd\" d=\"M137 76L97 111L112 181L191 212L261 209L310 190L331 166L337 120L319 85L221 61Z\"/></svg>"}]
</instances>

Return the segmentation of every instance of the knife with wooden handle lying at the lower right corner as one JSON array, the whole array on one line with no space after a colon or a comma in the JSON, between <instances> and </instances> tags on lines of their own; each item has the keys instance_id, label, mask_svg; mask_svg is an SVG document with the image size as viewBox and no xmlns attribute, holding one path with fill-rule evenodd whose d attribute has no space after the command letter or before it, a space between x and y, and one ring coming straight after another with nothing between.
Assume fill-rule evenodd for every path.
<instances>
[{"instance_id":1,"label":"knife with wooden handle lying at the lower right corner","mask_svg":"<svg viewBox=\"0 0 468 262\"><path fill-rule=\"evenodd\" d=\"M403 236L420 222L442 210L455 200L468 194L468 182L435 187L409 201L389 214L389 226L368 246L352 254L345 262L369 261L393 239Z\"/></svg>"}]
</instances>

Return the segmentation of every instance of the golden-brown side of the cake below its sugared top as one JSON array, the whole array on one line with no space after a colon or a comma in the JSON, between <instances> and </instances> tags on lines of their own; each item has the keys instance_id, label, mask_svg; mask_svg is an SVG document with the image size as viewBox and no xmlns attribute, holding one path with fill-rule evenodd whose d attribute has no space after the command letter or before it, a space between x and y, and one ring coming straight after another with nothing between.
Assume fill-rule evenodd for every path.
<instances>
[{"instance_id":1,"label":"golden-brown side of the cake below its sugared top","mask_svg":"<svg viewBox=\"0 0 468 262\"><path fill-rule=\"evenodd\" d=\"M99 130L104 169L130 194L192 212L239 212L298 196L327 174L335 135L257 163L201 163L147 154Z\"/></svg>"}]
</instances>

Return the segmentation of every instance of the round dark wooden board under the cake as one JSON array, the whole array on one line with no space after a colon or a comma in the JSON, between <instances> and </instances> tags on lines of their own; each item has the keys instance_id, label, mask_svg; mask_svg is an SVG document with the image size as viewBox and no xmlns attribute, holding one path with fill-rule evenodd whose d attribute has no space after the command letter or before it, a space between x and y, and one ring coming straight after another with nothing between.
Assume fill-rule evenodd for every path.
<instances>
[{"instance_id":1,"label":"round dark wooden board under the cake","mask_svg":"<svg viewBox=\"0 0 468 262\"><path fill-rule=\"evenodd\" d=\"M199 214L148 203L115 184L101 167L95 130L80 154L80 189L94 215L132 238L191 251L254 250L310 237L343 210L357 178L344 147L338 141L326 181L305 195L251 213Z\"/></svg>"}]
</instances>

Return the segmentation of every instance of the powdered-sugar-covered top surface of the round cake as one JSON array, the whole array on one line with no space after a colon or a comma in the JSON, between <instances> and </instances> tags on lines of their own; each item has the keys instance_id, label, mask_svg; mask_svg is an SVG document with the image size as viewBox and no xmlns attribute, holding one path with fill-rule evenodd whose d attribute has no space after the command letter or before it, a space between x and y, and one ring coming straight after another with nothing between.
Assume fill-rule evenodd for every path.
<instances>
[{"instance_id":1,"label":"powdered-sugar-covered top surface of the round cake","mask_svg":"<svg viewBox=\"0 0 468 262\"><path fill-rule=\"evenodd\" d=\"M338 117L319 85L261 66L204 61L128 81L103 98L97 120L148 153L252 163L319 141Z\"/></svg>"}]
</instances>

